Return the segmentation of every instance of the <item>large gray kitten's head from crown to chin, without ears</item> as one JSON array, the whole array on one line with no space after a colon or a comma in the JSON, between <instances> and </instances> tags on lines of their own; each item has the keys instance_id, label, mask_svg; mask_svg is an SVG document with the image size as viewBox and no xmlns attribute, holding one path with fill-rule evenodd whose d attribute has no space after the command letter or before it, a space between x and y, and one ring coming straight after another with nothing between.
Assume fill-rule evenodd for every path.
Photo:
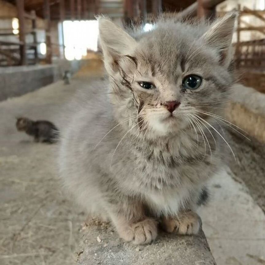
<instances>
[{"instance_id":1,"label":"large gray kitten's head from crown to chin, without ears","mask_svg":"<svg viewBox=\"0 0 265 265\"><path fill-rule=\"evenodd\" d=\"M138 113L140 130L156 137L204 127L202 119L207 122L227 101L232 76L220 51L197 31L181 24L158 26L112 62L113 91L124 104L119 109Z\"/></svg>"}]
</instances>

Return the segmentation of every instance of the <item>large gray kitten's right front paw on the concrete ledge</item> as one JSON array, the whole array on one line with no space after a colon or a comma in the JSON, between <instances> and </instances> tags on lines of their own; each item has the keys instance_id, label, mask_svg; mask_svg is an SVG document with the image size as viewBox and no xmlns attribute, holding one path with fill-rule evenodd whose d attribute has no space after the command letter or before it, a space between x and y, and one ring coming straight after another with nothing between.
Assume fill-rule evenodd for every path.
<instances>
[{"instance_id":1,"label":"large gray kitten's right front paw on the concrete ledge","mask_svg":"<svg viewBox=\"0 0 265 265\"><path fill-rule=\"evenodd\" d=\"M192 211L179 213L178 217L164 217L161 221L162 228L169 233L180 235L197 234L201 226L201 218Z\"/></svg>"}]
</instances>

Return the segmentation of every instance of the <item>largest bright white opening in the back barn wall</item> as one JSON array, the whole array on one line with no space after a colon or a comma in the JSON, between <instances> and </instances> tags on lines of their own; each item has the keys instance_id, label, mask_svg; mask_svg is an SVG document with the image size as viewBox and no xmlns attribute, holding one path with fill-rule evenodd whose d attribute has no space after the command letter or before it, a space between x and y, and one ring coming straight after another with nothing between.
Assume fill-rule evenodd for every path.
<instances>
[{"instance_id":1,"label":"largest bright white opening in the back barn wall","mask_svg":"<svg viewBox=\"0 0 265 265\"><path fill-rule=\"evenodd\" d=\"M98 21L63 21L63 39L67 60L81 60L87 50L98 50Z\"/></svg>"}]
</instances>

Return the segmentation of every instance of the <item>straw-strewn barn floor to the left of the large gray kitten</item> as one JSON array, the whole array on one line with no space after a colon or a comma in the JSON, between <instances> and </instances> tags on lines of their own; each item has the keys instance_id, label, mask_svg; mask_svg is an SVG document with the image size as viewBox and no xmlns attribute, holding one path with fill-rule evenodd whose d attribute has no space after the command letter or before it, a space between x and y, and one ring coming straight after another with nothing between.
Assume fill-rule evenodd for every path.
<instances>
[{"instance_id":1,"label":"straw-strewn barn floor to the left of the large gray kitten","mask_svg":"<svg viewBox=\"0 0 265 265\"><path fill-rule=\"evenodd\" d=\"M96 69L96 70L95 70ZM84 213L67 200L56 175L57 145L17 132L15 117L47 119L60 128L62 105L102 75L91 61L72 79L0 102L0 264L74 263ZM98 76L98 77L97 77Z\"/></svg>"}]
</instances>

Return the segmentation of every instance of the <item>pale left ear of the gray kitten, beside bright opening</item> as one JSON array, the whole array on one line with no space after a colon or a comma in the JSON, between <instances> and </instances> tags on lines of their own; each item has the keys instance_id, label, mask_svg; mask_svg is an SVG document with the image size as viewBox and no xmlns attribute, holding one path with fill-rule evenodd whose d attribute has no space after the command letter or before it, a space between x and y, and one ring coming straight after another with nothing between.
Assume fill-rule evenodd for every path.
<instances>
[{"instance_id":1,"label":"pale left ear of the gray kitten, beside bright opening","mask_svg":"<svg viewBox=\"0 0 265 265\"><path fill-rule=\"evenodd\" d=\"M99 39L104 55L104 64L109 74L117 71L117 60L130 55L136 47L134 40L121 27L105 17L98 18Z\"/></svg>"}]
</instances>

